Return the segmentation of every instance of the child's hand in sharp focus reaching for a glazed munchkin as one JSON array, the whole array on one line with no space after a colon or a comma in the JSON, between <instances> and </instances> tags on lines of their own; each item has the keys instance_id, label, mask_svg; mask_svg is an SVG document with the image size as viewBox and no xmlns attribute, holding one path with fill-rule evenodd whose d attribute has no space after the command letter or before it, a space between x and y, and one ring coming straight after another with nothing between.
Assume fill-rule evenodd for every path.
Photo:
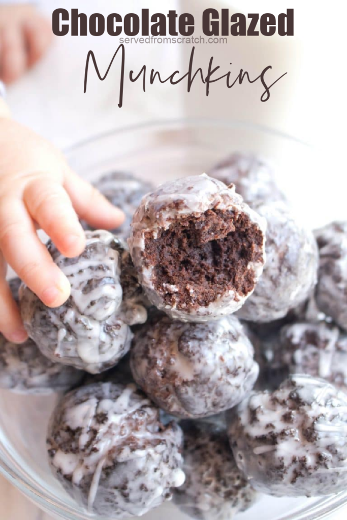
<instances>
[{"instance_id":1,"label":"child's hand in sharp focus reaching for a glazed munchkin","mask_svg":"<svg viewBox=\"0 0 347 520\"><path fill-rule=\"evenodd\" d=\"M104 229L120 225L124 215L72 172L58 150L2 114L0 99L0 331L20 343L27 333L5 280L6 264L49 307L62 305L70 295L68 279L35 227L73 257L85 245L78 215Z\"/></svg>"}]
</instances>

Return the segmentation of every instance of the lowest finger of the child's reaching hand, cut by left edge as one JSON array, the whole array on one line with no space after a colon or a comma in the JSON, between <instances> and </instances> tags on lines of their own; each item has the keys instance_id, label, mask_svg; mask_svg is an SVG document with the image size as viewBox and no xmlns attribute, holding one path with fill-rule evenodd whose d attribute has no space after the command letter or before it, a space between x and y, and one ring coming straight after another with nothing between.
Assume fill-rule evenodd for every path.
<instances>
[{"instance_id":1,"label":"lowest finger of the child's reaching hand, cut by left edge","mask_svg":"<svg viewBox=\"0 0 347 520\"><path fill-rule=\"evenodd\" d=\"M5 280L6 263L0 251L0 332L12 343L22 343L28 338L17 304Z\"/></svg>"}]
</instances>

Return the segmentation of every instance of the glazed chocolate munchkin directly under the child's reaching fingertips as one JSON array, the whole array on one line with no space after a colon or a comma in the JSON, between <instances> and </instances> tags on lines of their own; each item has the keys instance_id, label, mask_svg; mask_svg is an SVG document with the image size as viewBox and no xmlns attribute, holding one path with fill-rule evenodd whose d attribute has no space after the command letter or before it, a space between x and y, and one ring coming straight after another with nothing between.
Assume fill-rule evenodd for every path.
<instances>
[{"instance_id":1,"label":"glazed chocolate munchkin directly under the child's reaching fingertips","mask_svg":"<svg viewBox=\"0 0 347 520\"><path fill-rule=\"evenodd\" d=\"M69 300L51 309L28 287L21 289L24 325L45 356L97 373L126 354L132 339L128 324L144 322L147 312L123 297L122 248L107 231L86 231L86 248L76 258L48 245L71 283Z\"/></svg>"}]
</instances>

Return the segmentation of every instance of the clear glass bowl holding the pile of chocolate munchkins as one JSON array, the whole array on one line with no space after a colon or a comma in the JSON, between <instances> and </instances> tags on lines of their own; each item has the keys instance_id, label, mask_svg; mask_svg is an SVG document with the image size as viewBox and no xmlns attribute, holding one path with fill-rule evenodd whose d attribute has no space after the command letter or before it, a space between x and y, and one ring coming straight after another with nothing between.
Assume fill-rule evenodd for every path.
<instances>
[{"instance_id":1,"label":"clear glass bowl holding the pile of chocolate munchkins","mask_svg":"<svg viewBox=\"0 0 347 520\"><path fill-rule=\"evenodd\" d=\"M215 162L236 150L259 152L274 159L279 185L288 194L294 211L308 225L315 227L339 218L339 204L327 207L330 186L317 182L319 170L313 150L294 138L266 128L211 120L148 124L85 141L68 150L67 158L74 170L90 180L118 169L161 183L207 172ZM76 505L50 473L45 435L57 399L56 395L21 396L0 391L0 471L50 514L66 520L103 520ZM311 499L262 496L237 518L263 518L266 511L266 520L317 520L344 504L347 504L347 491ZM143 518L161 520L163 517L166 520L187 518L172 503L165 503Z\"/></svg>"}]
</instances>

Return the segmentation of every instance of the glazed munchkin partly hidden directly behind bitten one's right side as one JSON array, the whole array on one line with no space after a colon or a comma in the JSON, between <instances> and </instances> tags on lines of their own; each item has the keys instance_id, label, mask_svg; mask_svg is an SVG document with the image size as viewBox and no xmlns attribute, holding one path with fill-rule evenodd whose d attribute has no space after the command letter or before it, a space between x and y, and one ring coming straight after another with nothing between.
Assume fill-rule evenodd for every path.
<instances>
[{"instance_id":1,"label":"glazed munchkin partly hidden directly behind bitten one's right side","mask_svg":"<svg viewBox=\"0 0 347 520\"><path fill-rule=\"evenodd\" d=\"M249 321L274 321L311 295L317 281L318 250L312 231L296 222L284 202L254 207L267 221L266 264L238 316Z\"/></svg>"}]
</instances>

